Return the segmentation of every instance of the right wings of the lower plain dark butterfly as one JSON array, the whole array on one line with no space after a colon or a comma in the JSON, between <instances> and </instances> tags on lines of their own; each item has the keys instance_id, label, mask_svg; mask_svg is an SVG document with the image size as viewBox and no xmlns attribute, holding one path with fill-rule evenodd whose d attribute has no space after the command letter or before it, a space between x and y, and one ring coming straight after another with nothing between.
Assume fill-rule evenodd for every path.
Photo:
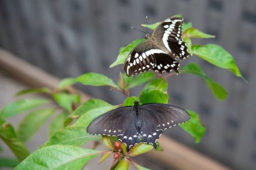
<instances>
[{"instance_id":1,"label":"right wings of the lower plain dark butterfly","mask_svg":"<svg viewBox=\"0 0 256 170\"><path fill-rule=\"evenodd\" d=\"M164 130L183 124L190 119L182 108L160 103L141 105L141 142L153 144L160 138Z\"/></svg>"}]
</instances>

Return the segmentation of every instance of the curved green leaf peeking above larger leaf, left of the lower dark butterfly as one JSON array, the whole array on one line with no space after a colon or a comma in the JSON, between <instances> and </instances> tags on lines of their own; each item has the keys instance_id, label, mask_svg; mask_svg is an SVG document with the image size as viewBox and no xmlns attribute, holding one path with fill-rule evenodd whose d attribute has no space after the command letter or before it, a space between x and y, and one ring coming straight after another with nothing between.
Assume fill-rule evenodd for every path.
<instances>
[{"instance_id":1,"label":"curved green leaf peeking above larger leaf, left of the lower dark butterfly","mask_svg":"<svg viewBox=\"0 0 256 170\"><path fill-rule=\"evenodd\" d=\"M89 110L102 108L104 106L110 106L110 103L107 103L102 99L88 99L88 101L86 101L82 105L79 105L79 107L71 114L71 116L75 116L75 115L82 116L84 113L88 112Z\"/></svg>"}]
</instances>

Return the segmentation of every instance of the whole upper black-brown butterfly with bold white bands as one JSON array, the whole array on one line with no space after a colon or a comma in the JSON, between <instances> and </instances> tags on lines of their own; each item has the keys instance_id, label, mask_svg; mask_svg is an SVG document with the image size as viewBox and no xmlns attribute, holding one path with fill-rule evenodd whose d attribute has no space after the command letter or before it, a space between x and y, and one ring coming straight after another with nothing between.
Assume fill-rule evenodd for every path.
<instances>
[{"instance_id":1,"label":"whole upper black-brown butterfly with bold white bands","mask_svg":"<svg viewBox=\"0 0 256 170\"><path fill-rule=\"evenodd\" d=\"M127 56L124 70L127 76L153 70L159 73L179 73L179 61L190 54L182 38L183 19L172 17L164 20L154 30L152 36L139 43Z\"/></svg>"}]
</instances>

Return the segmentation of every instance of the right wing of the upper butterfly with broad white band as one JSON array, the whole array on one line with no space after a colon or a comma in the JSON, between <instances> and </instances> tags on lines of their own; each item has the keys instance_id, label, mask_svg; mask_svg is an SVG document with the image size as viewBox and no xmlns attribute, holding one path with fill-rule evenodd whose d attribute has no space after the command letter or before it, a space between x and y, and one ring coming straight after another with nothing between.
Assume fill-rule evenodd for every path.
<instances>
[{"instance_id":1,"label":"right wing of the upper butterfly with broad white band","mask_svg":"<svg viewBox=\"0 0 256 170\"><path fill-rule=\"evenodd\" d=\"M183 60L189 56L189 52L182 38L182 25L182 18L168 18L154 30L152 38L163 44L171 54Z\"/></svg>"}]
</instances>

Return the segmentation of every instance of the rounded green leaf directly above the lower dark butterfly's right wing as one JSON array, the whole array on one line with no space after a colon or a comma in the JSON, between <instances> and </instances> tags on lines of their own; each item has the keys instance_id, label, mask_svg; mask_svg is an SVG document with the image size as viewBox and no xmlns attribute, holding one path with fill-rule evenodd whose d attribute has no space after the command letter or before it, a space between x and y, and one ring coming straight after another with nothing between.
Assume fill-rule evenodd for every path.
<instances>
[{"instance_id":1,"label":"rounded green leaf directly above the lower dark butterfly's right wing","mask_svg":"<svg viewBox=\"0 0 256 170\"><path fill-rule=\"evenodd\" d=\"M141 91L139 101L141 103L168 103L168 83L165 79L150 81Z\"/></svg>"}]
</instances>

